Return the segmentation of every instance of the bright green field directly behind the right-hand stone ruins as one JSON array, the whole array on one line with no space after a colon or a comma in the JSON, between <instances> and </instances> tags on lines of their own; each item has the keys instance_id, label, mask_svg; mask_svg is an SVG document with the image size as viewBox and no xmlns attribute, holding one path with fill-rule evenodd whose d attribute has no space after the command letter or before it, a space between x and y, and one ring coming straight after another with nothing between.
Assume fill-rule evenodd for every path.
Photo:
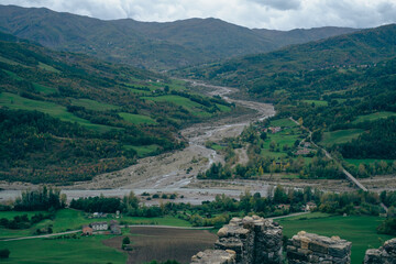
<instances>
[{"instance_id":1,"label":"bright green field directly behind the right-hand stone ruins","mask_svg":"<svg viewBox=\"0 0 396 264\"><path fill-rule=\"evenodd\" d=\"M328 217L322 213L312 213L297 218L278 219L276 221L284 227L284 234L288 238L304 230L326 237L339 235L341 239L351 241L352 264L361 264L367 249L378 248L386 240L392 239L389 235L376 233L376 227L383 220L383 218L378 217Z\"/></svg>"}]
</instances>

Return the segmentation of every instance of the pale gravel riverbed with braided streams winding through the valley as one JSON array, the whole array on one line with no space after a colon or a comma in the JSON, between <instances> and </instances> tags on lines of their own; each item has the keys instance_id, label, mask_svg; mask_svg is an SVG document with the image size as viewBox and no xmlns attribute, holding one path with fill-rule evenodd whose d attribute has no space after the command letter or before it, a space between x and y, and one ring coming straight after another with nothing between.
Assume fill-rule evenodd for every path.
<instances>
[{"instance_id":1,"label":"pale gravel riverbed with braided streams winding through the valley","mask_svg":"<svg viewBox=\"0 0 396 264\"><path fill-rule=\"evenodd\" d=\"M208 182L198 182L196 176L205 172L212 163L223 162L223 156L205 146L207 141L219 141L224 138L239 135L251 122L263 120L275 114L272 105L238 100L229 98L237 91L235 88L211 86L201 82L191 82L193 86L201 87L209 96L219 95L229 102L234 102L255 110L244 117L230 117L213 123L196 124L187 128L180 134L189 145L180 151L165 153L154 157L142 158L138 164L119 172L96 176L90 182L76 183L73 186L61 186L62 193L68 200L78 197L111 196L122 197L131 190L135 194L166 193L178 195L176 202L201 204L204 200L212 200L216 195L224 194L238 198L246 190L266 195L268 185L249 180L230 180L226 184L218 183L215 187ZM0 191L0 199L14 199L26 188L36 186L26 184L1 185L4 190ZM183 198L182 198L183 197ZM147 200L147 205L158 204L158 200Z\"/></svg>"}]
</instances>

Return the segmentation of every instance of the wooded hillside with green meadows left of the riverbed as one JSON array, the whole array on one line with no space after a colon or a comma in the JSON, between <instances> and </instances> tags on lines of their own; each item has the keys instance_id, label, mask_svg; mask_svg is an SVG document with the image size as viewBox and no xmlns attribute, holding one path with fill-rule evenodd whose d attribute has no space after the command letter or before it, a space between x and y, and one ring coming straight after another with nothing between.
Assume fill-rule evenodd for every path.
<instances>
[{"instance_id":1,"label":"wooded hillside with green meadows left of the riverbed","mask_svg":"<svg viewBox=\"0 0 396 264\"><path fill-rule=\"evenodd\" d=\"M0 34L1 179L90 179L183 147L180 128L232 109L184 81Z\"/></svg>"}]
</instances>

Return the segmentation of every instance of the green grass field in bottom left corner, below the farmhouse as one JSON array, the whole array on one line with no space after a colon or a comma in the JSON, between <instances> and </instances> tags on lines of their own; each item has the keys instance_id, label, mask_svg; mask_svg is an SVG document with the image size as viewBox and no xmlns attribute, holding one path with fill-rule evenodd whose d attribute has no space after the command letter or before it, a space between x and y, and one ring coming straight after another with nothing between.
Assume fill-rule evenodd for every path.
<instances>
[{"instance_id":1,"label":"green grass field in bottom left corner, below the farmhouse","mask_svg":"<svg viewBox=\"0 0 396 264\"><path fill-rule=\"evenodd\" d=\"M108 235L62 240L21 240L1 242L0 249L11 251L10 258L2 263L122 263L127 254L103 245Z\"/></svg>"}]
</instances>

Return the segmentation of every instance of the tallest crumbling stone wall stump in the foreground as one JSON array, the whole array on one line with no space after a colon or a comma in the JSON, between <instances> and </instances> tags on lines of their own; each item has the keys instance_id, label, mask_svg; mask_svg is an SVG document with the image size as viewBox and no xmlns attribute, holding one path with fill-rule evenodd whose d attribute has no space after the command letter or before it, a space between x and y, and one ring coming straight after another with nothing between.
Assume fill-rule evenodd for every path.
<instances>
[{"instance_id":1,"label":"tallest crumbling stone wall stump in the foreground","mask_svg":"<svg viewBox=\"0 0 396 264\"><path fill-rule=\"evenodd\" d=\"M260 217L233 218L218 232L217 250L235 252L237 263L282 263L282 227Z\"/></svg>"}]
</instances>

